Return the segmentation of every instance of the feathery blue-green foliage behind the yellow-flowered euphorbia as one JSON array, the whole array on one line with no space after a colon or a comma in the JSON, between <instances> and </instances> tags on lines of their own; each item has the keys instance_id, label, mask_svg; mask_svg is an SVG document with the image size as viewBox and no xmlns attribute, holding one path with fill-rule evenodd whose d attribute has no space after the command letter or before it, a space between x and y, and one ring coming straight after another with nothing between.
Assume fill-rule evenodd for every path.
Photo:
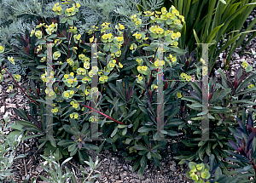
<instances>
[{"instance_id":1,"label":"feathery blue-green foliage behind the yellow-flowered euphorbia","mask_svg":"<svg viewBox=\"0 0 256 183\"><path fill-rule=\"evenodd\" d=\"M141 0L77 0L81 4L77 22L79 32L89 31L91 26L100 26L103 22L111 22L112 25L122 23L132 31L137 27L131 23L131 15L137 14L137 5L142 4ZM21 48L18 39L26 37L26 31L38 25L38 18L54 18L56 14L52 10L56 0L2 0L0 3L0 43L3 46L17 46ZM159 9L163 0L149 0L143 3L141 10ZM62 15L60 16L60 19ZM8 49L6 49L8 50ZM9 50L13 53L13 50ZM9 54L10 55L10 54ZM15 61L16 65L5 63L12 73L25 75L26 67L20 66L22 61Z\"/></svg>"}]
</instances>

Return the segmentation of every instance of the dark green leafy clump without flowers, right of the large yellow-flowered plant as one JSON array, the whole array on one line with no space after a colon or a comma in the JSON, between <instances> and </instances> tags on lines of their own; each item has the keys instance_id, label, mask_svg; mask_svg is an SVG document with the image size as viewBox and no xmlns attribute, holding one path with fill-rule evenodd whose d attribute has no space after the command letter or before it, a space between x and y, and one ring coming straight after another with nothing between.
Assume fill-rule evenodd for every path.
<instances>
[{"instance_id":1,"label":"dark green leafy clump without flowers, right of the large yellow-flowered plant","mask_svg":"<svg viewBox=\"0 0 256 183\"><path fill-rule=\"evenodd\" d=\"M183 140L183 144L189 148L189 152L181 152L182 156L177 157L182 160L203 161L203 157L214 154L221 163L221 168L224 168L223 157L227 157L224 151L229 149L228 140L233 137L230 134L236 127L236 116L240 116L242 108L245 106L255 106L255 87L249 89L250 83L254 83L256 75L253 73L251 76L244 78L241 68L236 72L236 77L231 82L229 74L227 77L224 72L218 70L222 77L221 83L217 83L217 78L210 78L209 81L209 138L212 140L201 140L201 86L198 83L190 83L193 91L190 92L188 97L183 97L183 100L191 101L192 112L190 116L192 123L187 123L184 129L187 140ZM254 111L254 108L250 108ZM198 113L199 112L199 113ZM207 111L203 112L207 115Z\"/></svg>"}]
</instances>

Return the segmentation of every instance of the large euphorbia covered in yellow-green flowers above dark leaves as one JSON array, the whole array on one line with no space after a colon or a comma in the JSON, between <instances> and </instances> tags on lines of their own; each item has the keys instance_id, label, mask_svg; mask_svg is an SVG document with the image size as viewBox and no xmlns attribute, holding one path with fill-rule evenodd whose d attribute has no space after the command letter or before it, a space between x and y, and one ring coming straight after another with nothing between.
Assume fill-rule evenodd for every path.
<instances>
[{"instance_id":1,"label":"large euphorbia covered in yellow-green flowers above dark leaves","mask_svg":"<svg viewBox=\"0 0 256 183\"><path fill-rule=\"evenodd\" d=\"M15 111L25 120L17 123L24 130L45 135L46 106L52 106L50 113L54 123L50 128L53 134L46 134L50 144L44 140L41 146L47 142L49 149L62 148L60 152L63 154L67 147L71 156L77 153L80 160L84 160L85 149L96 149L96 146L85 143L90 139L87 134L92 134L85 123L96 122L101 124L102 130L97 135L105 139L110 137L107 142L114 150L116 141L125 140L123 145L129 148L132 156L137 150L141 151L134 170L140 165L142 174L147 159L160 166L159 149L165 143L149 139L156 140L158 133L177 135L170 129L182 125L183 121L173 119L179 112L175 108L183 87L191 79L185 75L182 82L164 83L166 102L163 106L166 109L165 114L160 114L163 106L156 103L159 66L165 71L165 79L179 79L183 72L183 65L178 64L176 58L185 53L177 48L183 16L174 7L163 8L160 12L131 15L137 27L134 32L125 30L122 24L110 26L105 22L91 27L90 32L79 34L74 18L79 3L57 3L53 10L58 16L41 22L26 39L31 43L31 49L19 50L23 59L30 59L25 65L35 66L30 66L32 94L27 94L32 101L31 110ZM164 45L163 60L158 55L161 43ZM50 49L53 53L52 71L46 71L51 61ZM95 49L99 51L94 52ZM97 85L91 87L96 76L99 79ZM90 107L94 102L96 107ZM90 115L92 112L94 115ZM165 128L159 132L156 129L160 116L165 121ZM148 146L147 150L141 146Z\"/></svg>"}]
</instances>

